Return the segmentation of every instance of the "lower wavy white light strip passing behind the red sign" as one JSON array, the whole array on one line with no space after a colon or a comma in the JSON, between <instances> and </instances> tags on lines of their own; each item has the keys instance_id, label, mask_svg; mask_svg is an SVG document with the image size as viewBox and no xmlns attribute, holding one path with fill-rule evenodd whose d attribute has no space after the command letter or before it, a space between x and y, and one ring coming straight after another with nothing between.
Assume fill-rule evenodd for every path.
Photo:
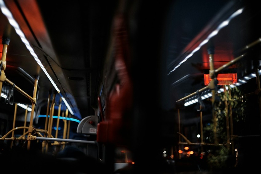
<instances>
[{"instance_id":1,"label":"lower wavy white light strip passing behind the red sign","mask_svg":"<svg viewBox=\"0 0 261 174\"><path fill-rule=\"evenodd\" d=\"M260 74L261 70L259 70L258 72ZM240 81L240 82L237 82L236 84L231 84L230 88L235 88L236 86L240 86L240 85L242 85L244 83L247 83L248 80L250 80L251 78L254 78L254 77L255 77L255 73L252 73L252 74L249 74L247 76L244 76L243 78L238 79L238 81ZM228 90L228 86L226 86L226 89ZM223 93L224 89L220 88L220 89L217 90L217 92L218 93ZM212 93L204 94L204 96L201 96L201 99L204 100L204 99L207 99L209 97L212 97ZM189 106L191 104L194 104L193 101L197 101L197 99L195 99L195 98L197 98L197 96L193 96L193 97L190 97L189 99L186 99L184 106L186 107L186 106Z\"/></svg>"}]
</instances>

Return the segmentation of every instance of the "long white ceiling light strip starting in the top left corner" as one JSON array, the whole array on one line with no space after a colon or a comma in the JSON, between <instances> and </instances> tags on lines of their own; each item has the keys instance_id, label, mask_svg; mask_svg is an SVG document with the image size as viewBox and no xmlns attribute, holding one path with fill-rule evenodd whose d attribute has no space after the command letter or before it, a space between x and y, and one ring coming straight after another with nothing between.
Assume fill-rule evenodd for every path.
<instances>
[{"instance_id":1,"label":"long white ceiling light strip starting in the top left corner","mask_svg":"<svg viewBox=\"0 0 261 174\"><path fill-rule=\"evenodd\" d=\"M25 44L26 48L30 51L31 55L33 56L33 58L36 60L36 62L38 63L38 65L41 67L41 69L44 71L44 73L46 74L47 78L49 78L50 82L53 84L53 87L56 89L56 91L60 92L59 88L56 86L56 84L54 83L53 79L50 77L50 75L48 74L48 72L45 70L45 67L43 66L43 64L41 63L40 59L38 59L38 56L36 55L36 53L34 52L33 48L31 47L29 41L25 38L24 33L21 31L18 23L14 20L14 17L12 15L12 13L10 12L9 9L7 9L5 3L3 0L0 0L0 8L2 10L2 13L7 17L10 25L12 25L16 31L16 33L20 36L22 42ZM74 115L74 113L72 112L71 107L69 106L69 104L67 103L67 101L62 97L65 105L67 106L69 112Z\"/></svg>"}]
</instances>

